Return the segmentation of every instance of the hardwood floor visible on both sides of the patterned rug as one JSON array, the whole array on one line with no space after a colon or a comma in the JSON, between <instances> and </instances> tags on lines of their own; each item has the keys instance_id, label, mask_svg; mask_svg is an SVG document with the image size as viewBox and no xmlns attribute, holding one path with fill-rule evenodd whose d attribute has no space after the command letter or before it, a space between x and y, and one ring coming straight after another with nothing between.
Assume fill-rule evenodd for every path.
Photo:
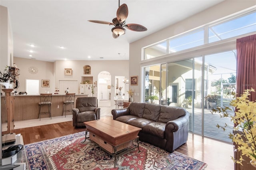
<instances>
[{"instance_id":1,"label":"hardwood floor visible on both sides of the patterned rug","mask_svg":"<svg viewBox=\"0 0 256 170\"><path fill-rule=\"evenodd\" d=\"M22 135L24 144L30 144L84 130L85 128L74 128L72 121L68 121L20 128L14 131L16 134L20 133ZM230 157L233 156L233 146L231 144L189 133L188 142L180 146L176 151L205 162L208 164L207 170L234 170L234 163Z\"/></svg>"}]
</instances>

